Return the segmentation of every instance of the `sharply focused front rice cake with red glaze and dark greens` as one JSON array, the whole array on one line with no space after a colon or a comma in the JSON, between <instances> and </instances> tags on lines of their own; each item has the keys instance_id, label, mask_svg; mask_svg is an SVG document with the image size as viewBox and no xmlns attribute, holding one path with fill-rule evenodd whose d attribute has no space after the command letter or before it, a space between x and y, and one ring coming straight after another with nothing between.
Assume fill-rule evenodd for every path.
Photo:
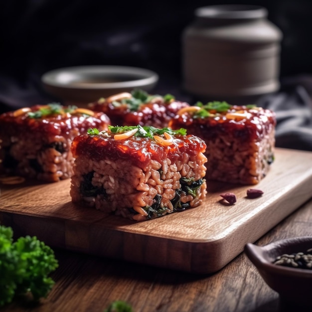
<instances>
[{"instance_id":1,"label":"sharply focused front rice cake with red glaze and dark greens","mask_svg":"<svg viewBox=\"0 0 312 312\"><path fill-rule=\"evenodd\" d=\"M72 202L137 221L200 205L206 145L185 129L109 126L72 143Z\"/></svg>"}]
</instances>

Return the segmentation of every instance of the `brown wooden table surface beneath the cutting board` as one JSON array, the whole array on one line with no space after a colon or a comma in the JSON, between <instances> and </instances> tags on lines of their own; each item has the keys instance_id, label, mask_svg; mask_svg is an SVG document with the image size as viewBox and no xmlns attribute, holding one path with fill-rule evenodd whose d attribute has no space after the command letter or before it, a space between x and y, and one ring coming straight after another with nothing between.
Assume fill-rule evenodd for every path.
<instances>
[{"instance_id":1,"label":"brown wooden table surface beneath the cutting board","mask_svg":"<svg viewBox=\"0 0 312 312\"><path fill-rule=\"evenodd\" d=\"M256 244L309 236L312 198ZM55 249L59 268L46 299L34 307L12 303L1 312L103 312L115 300L134 312L277 312L278 294L243 252L214 274L196 275ZM301 310L302 311L302 310Z\"/></svg>"}]
</instances>

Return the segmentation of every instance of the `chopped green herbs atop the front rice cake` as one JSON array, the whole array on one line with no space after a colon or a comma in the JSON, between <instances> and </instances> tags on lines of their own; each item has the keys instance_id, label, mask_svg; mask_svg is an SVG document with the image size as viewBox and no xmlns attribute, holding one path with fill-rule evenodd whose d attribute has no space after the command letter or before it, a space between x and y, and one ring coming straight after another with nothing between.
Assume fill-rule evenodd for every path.
<instances>
[{"instance_id":1,"label":"chopped green herbs atop the front rice cake","mask_svg":"<svg viewBox=\"0 0 312 312\"><path fill-rule=\"evenodd\" d=\"M131 131L133 129L138 128L137 133L134 135L135 137L142 137L142 138L151 138L155 135L160 136L163 135L165 132L169 135L181 135L185 136L186 135L186 129L180 128L179 130L171 130L169 128L162 128L158 129L153 126L108 126L108 129L110 132L113 134L122 134L128 131Z\"/></svg>"}]
</instances>

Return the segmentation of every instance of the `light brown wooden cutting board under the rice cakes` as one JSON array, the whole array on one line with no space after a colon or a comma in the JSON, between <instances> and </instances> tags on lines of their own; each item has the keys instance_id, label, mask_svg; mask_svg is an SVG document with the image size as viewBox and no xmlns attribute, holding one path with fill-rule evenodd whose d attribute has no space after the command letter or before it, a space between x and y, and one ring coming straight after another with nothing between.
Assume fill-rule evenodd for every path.
<instances>
[{"instance_id":1,"label":"light brown wooden cutting board under the rice cakes","mask_svg":"<svg viewBox=\"0 0 312 312\"><path fill-rule=\"evenodd\" d=\"M70 180L1 185L0 223L51 247L193 273L213 273L312 197L312 153L276 149L258 184L209 181L205 202L154 220L133 222L71 202ZM248 188L264 194L246 198ZM220 193L234 192L224 205Z\"/></svg>"}]
</instances>

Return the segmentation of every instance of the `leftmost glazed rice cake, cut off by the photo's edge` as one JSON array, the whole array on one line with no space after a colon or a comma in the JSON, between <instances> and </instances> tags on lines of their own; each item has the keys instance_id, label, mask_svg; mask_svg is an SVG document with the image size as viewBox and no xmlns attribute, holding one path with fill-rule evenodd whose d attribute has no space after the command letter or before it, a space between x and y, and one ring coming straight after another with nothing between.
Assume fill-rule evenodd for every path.
<instances>
[{"instance_id":1,"label":"leftmost glazed rice cake, cut off by the photo's edge","mask_svg":"<svg viewBox=\"0 0 312 312\"><path fill-rule=\"evenodd\" d=\"M74 137L90 127L107 130L100 112L57 103L35 105L0 115L0 173L46 182L72 175Z\"/></svg>"}]
</instances>

